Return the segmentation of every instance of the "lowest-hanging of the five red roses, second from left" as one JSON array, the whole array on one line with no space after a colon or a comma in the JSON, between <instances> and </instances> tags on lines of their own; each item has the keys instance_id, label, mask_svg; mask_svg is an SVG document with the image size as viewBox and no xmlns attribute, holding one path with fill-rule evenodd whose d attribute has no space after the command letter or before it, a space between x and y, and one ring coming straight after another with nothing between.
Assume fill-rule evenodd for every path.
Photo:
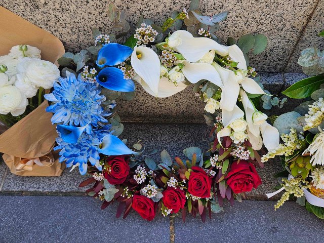
<instances>
[{"instance_id":1,"label":"lowest-hanging of the five red roses, second from left","mask_svg":"<svg viewBox=\"0 0 324 243\"><path fill-rule=\"evenodd\" d=\"M134 195L132 208L143 218L151 221L155 217L155 203L143 195Z\"/></svg>"}]
</instances>

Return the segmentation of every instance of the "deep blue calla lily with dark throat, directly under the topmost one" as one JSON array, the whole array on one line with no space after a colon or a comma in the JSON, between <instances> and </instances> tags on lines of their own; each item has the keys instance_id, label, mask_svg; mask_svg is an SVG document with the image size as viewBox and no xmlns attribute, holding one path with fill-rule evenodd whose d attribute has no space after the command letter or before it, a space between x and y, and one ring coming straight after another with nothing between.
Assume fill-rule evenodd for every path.
<instances>
[{"instance_id":1,"label":"deep blue calla lily with dark throat, directly under the topmost one","mask_svg":"<svg viewBox=\"0 0 324 243\"><path fill-rule=\"evenodd\" d=\"M135 84L132 79L125 79L124 73L116 67L105 67L96 76L97 82L108 90L120 92L135 91Z\"/></svg>"}]
</instances>

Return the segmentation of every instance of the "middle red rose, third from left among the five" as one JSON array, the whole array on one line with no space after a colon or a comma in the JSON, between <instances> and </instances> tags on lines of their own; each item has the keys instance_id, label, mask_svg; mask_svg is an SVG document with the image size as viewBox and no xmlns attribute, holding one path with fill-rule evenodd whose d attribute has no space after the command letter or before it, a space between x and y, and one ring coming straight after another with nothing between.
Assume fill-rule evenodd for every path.
<instances>
[{"instance_id":1,"label":"middle red rose, third from left among the five","mask_svg":"<svg viewBox=\"0 0 324 243\"><path fill-rule=\"evenodd\" d=\"M172 209L172 213L178 213L180 209L183 209L186 203L186 195L180 188L168 187L167 190L162 192L163 204L168 208Z\"/></svg>"}]
</instances>

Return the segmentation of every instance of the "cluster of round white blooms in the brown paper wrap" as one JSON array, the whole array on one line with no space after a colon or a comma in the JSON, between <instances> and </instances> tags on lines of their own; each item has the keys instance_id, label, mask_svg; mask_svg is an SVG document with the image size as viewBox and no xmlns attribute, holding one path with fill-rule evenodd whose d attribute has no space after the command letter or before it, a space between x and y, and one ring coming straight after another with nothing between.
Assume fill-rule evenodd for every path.
<instances>
[{"instance_id":1,"label":"cluster of round white blooms in the brown paper wrap","mask_svg":"<svg viewBox=\"0 0 324 243\"><path fill-rule=\"evenodd\" d=\"M41 59L41 50L28 45L14 46L0 56L0 114L25 112L28 99L39 88L50 89L60 77L56 65Z\"/></svg>"}]
</instances>

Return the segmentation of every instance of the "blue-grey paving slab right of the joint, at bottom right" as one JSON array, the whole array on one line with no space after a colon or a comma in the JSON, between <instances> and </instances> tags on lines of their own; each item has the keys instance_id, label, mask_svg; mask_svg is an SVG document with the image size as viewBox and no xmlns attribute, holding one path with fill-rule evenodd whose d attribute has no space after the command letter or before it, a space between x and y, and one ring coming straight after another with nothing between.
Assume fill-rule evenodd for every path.
<instances>
[{"instance_id":1,"label":"blue-grey paving slab right of the joint, at bottom right","mask_svg":"<svg viewBox=\"0 0 324 243\"><path fill-rule=\"evenodd\" d=\"M274 202L243 201L201 223L176 218L175 242L323 242L324 224L295 202L274 211Z\"/></svg>"}]
</instances>

